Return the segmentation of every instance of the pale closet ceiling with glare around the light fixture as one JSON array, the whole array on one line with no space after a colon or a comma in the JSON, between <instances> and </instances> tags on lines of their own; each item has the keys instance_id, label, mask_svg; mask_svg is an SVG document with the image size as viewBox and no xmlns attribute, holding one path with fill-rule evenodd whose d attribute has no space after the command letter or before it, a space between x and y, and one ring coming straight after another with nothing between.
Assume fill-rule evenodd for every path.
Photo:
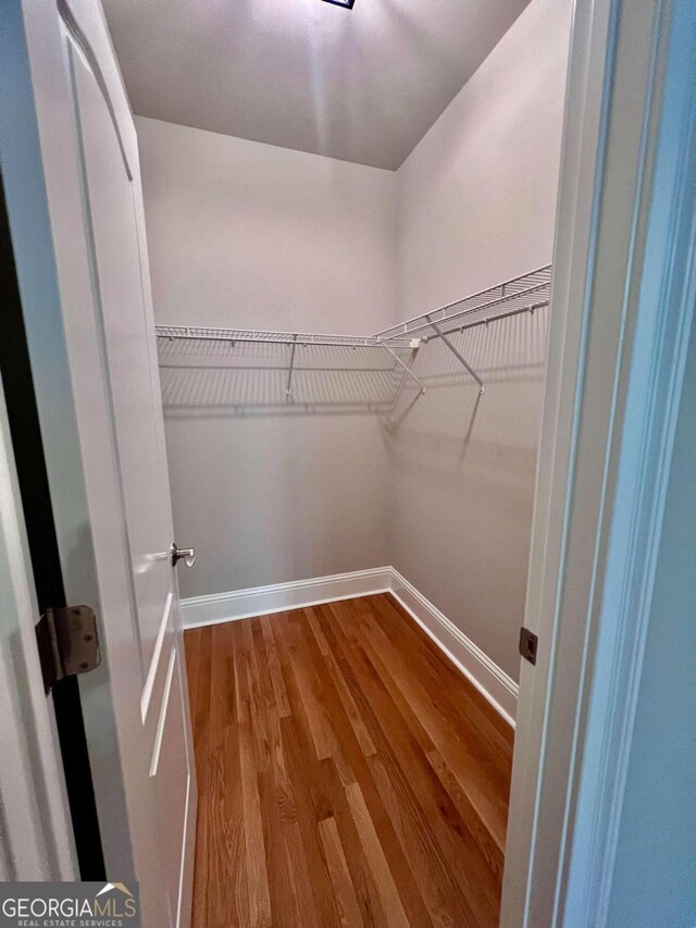
<instances>
[{"instance_id":1,"label":"pale closet ceiling with glare around the light fixture","mask_svg":"<svg viewBox=\"0 0 696 928\"><path fill-rule=\"evenodd\" d=\"M529 0L105 0L134 111L397 169Z\"/></svg>"}]
</instances>

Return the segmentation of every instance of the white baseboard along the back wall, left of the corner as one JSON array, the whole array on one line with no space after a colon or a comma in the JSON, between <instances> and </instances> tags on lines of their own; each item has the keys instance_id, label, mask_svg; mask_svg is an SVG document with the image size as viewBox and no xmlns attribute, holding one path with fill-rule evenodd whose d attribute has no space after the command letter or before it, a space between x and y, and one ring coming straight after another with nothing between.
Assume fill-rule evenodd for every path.
<instances>
[{"instance_id":1,"label":"white baseboard along the back wall, left of the corner","mask_svg":"<svg viewBox=\"0 0 696 928\"><path fill-rule=\"evenodd\" d=\"M185 629L213 626L237 619L251 619L286 609L302 609L353 596L371 596L387 593L391 589L391 568L377 567L371 570L355 570L332 577L312 580L296 580L290 583L274 583L270 586L252 586L234 593L217 593L212 596L194 596L182 599L182 621Z\"/></svg>"}]
</instances>

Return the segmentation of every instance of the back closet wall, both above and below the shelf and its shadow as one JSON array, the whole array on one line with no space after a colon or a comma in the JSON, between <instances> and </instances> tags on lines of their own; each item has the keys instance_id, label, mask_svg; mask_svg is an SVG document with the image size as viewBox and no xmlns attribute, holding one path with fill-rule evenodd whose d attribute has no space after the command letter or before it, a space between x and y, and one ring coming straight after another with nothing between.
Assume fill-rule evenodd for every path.
<instances>
[{"instance_id":1,"label":"back closet wall, both above and below the shelf and its shadow","mask_svg":"<svg viewBox=\"0 0 696 928\"><path fill-rule=\"evenodd\" d=\"M394 173L136 125L158 322L352 334L391 321ZM388 561L373 416L241 416L199 401L211 384L190 378L165 401L177 542L199 554L184 596Z\"/></svg>"}]
</instances>

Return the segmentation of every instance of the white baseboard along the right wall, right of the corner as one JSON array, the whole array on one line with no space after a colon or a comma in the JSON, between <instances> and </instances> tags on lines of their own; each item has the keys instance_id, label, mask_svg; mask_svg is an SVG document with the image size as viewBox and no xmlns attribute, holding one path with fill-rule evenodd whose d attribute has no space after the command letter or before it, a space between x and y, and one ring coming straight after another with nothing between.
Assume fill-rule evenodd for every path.
<instances>
[{"instance_id":1,"label":"white baseboard along the right wall, right of the corner","mask_svg":"<svg viewBox=\"0 0 696 928\"><path fill-rule=\"evenodd\" d=\"M514 728L519 690L514 680L394 568L391 595Z\"/></svg>"}]
</instances>

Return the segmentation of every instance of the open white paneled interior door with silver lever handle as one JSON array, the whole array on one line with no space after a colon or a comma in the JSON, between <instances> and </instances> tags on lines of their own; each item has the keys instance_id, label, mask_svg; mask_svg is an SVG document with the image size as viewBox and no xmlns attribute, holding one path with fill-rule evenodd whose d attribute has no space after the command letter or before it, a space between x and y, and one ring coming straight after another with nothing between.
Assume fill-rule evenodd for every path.
<instances>
[{"instance_id":1,"label":"open white paneled interior door with silver lever handle","mask_svg":"<svg viewBox=\"0 0 696 928\"><path fill-rule=\"evenodd\" d=\"M135 131L99 5L21 8L3 168L65 587L104 656L80 692L107 876L139 880L145 926L185 926L195 767Z\"/></svg>"}]
</instances>

